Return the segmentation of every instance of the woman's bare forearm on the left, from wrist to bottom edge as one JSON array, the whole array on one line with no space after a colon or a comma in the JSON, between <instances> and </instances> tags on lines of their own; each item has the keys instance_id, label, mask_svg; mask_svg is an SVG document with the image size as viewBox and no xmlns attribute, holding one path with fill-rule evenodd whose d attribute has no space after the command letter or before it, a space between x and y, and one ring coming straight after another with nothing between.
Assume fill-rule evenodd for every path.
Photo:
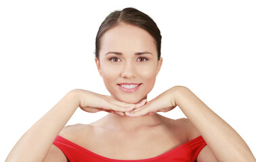
<instances>
[{"instance_id":1,"label":"woman's bare forearm on the left, from wrist to bottom edge","mask_svg":"<svg viewBox=\"0 0 256 162\"><path fill-rule=\"evenodd\" d=\"M68 92L16 143L6 161L43 161L56 136L79 107L76 92Z\"/></svg>"}]
</instances>

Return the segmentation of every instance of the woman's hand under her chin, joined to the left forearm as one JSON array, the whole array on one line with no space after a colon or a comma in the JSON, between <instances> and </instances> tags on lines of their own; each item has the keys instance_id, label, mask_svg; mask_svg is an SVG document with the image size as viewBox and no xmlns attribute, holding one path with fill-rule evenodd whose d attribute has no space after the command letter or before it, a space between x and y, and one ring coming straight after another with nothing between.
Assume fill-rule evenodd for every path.
<instances>
[{"instance_id":1,"label":"woman's hand under her chin, joined to the left forearm","mask_svg":"<svg viewBox=\"0 0 256 162\"><path fill-rule=\"evenodd\" d=\"M146 104L146 99L139 103L124 103L113 99L110 96L91 92L89 90L75 89L74 91L79 94L79 107L83 111L89 113L96 113L98 111L106 111L108 113L115 113L118 115L125 115L133 109L142 107Z\"/></svg>"}]
</instances>

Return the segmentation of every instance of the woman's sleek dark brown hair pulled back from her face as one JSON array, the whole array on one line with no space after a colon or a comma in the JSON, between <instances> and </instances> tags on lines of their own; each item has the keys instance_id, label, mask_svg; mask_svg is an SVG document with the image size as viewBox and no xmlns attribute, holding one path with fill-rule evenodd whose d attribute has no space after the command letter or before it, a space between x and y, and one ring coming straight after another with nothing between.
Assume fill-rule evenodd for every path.
<instances>
[{"instance_id":1,"label":"woman's sleek dark brown hair pulled back from her face","mask_svg":"<svg viewBox=\"0 0 256 162\"><path fill-rule=\"evenodd\" d=\"M100 41L103 34L110 28L117 26L119 23L125 22L146 30L153 38L156 43L158 59L161 57L161 32L158 29L156 23L150 16L144 14L135 8L125 8L121 11L113 11L100 25L96 40L95 40L95 57L99 59Z\"/></svg>"}]
</instances>

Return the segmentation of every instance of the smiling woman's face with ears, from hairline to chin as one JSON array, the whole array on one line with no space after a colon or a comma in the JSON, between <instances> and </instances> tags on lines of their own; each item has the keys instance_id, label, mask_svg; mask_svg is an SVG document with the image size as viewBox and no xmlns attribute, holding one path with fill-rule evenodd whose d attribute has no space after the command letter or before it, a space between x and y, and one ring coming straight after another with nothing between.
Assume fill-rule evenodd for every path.
<instances>
[{"instance_id":1,"label":"smiling woman's face with ears, from hairline to chin","mask_svg":"<svg viewBox=\"0 0 256 162\"><path fill-rule=\"evenodd\" d=\"M114 99L137 103L152 90L162 60L158 60L154 39L146 30L121 23L102 36L95 62Z\"/></svg>"}]
</instances>

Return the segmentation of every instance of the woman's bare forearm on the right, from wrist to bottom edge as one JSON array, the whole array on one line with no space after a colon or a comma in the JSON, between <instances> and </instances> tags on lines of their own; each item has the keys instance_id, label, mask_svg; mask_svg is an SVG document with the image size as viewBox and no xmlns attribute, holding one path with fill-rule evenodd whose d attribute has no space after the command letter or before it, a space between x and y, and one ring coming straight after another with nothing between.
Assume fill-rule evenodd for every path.
<instances>
[{"instance_id":1,"label":"woman's bare forearm on the right, from wrist to bottom edge","mask_svg":"<svg viewBox=\"0 0 256 162\"><path fill-rule=\"evenodd\" d=\"M175 102L207 142L218 161L255 161L239 134L186 87Z\"/></svg>"}]
</instances>

